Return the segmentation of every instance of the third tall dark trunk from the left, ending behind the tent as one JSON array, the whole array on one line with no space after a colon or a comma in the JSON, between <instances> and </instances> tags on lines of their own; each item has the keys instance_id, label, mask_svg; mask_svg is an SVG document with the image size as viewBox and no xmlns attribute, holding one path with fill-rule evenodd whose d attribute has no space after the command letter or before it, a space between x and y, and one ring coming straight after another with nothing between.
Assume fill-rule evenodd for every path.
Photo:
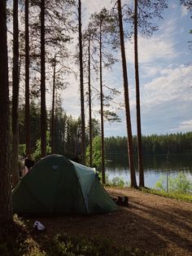
<instances>
[{"instance_id":1,"label":"third tall dark trunk from the left, ending behind the tent","mask_svg":"<svg viewBox=\"0 0 192 256\"><path fill-rule=\"evenodd\" d=\"M26 155L31 152L29 103L29 44L28 44L28 0L25 0L25 138Z\"/></svg>"}]
</instances>

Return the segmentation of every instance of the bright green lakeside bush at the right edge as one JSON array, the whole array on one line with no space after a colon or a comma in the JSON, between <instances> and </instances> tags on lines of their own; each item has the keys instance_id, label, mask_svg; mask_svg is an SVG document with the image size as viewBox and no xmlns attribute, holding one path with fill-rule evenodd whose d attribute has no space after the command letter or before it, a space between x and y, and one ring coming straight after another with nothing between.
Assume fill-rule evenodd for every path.
<instances>
[{"instance_id":1,"label":"bright green lakeside bush at the right edge","mask_svg":"<svg viewBox=\"0 0 192 256\"><path fill-rule=\"evenodd\" d=\"M180 172L175 178L170 176L161 177L156 183L155 188L163 192L167 190L167 192L187 194L192 192L192 183L183 172Z\"/></svg>"}]
</instances>

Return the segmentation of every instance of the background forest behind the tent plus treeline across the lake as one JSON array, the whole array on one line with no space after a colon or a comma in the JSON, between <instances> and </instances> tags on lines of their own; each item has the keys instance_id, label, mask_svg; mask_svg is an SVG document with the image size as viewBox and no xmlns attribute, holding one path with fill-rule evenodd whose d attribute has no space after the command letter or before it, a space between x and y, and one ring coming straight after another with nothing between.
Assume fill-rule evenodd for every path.
<instances>
[{"instance_id":1,"label":"background forest behind the tent plus treeline across the lake","mask_svg":"<svg viewBox=\"0 0 192 256\"><path fill-rule=\"evenodd\" d=\"M75 159L80 155L81 151L81 118L73 118L68 116L61 105L57 103L55 108L55 152L65 155L71 159ZM30 105L31 119L31 137L32 152L37 150L37 141L39 139L40 130L40 107L34 102ZM48 113L47 123L50 130L51 117ZM100 124L98 120L93 119L93 139L101 136ZM25 145L24 131L24 106L20 106L20 154L24 155L22 145ZM47 143L50 142L50 136L47 135ZM89 146L89 127L85 129L86 148ZM106 154L127 154L127 138L126 137L109 137L105 138ZM147 135L142 136L142 148L144 155L150 154L181 154L192 152L192 131L187 133L177 133L171 135ZM133 136L133 152L137 154L137 136ZM49 152L48 152L49 153ZM34 156L35 157L35 156Z\"/></svg>"}]
</instances>

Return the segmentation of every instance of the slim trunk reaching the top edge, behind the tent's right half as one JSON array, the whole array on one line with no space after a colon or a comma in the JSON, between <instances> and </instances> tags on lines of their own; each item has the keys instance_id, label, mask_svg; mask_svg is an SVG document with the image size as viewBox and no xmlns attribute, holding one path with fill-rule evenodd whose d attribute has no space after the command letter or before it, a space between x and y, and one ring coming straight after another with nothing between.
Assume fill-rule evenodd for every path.
<instances>
[{"instance_id":1,"label":"slim trunk reaching the top edge, behind the tent's right half","mask_svg":"<svg viewBox=\"0 0 192 256\"><path fill-rule=\"evenodd\" d=\"M79 58L80 58L80 90L81 90L81 157L85 165L85 108L84 108L84 84L83 84L83 52L81 33L81 0L79 0Z\"/></svg>"}]
</instances>

